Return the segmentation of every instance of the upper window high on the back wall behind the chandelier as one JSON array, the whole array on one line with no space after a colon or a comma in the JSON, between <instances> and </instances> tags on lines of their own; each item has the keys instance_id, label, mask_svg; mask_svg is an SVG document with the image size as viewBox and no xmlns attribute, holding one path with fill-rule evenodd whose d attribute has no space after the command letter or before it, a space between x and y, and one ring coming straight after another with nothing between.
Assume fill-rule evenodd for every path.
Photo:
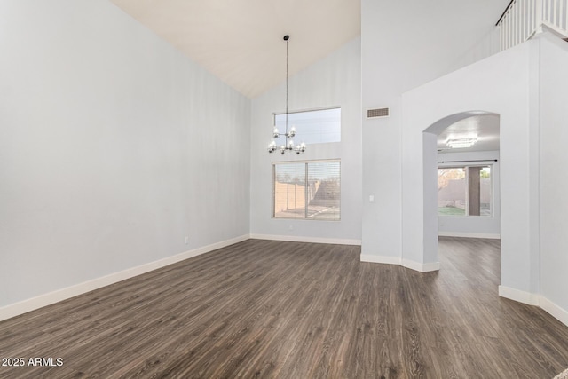
<instances>
[{"instance_id":1,"label":"upper window high on the back wall behind the chandelier","mask_svg":"<svg viewBox=\"0 0 568 379\"><path fill-rule=\"evenodd\" d=\"M284 133L286 114L274 114L274 126ZM288 113L288 127L296 127L296 139L309 144L341 142L341 108Z\"/></svg>"}]
</instances>

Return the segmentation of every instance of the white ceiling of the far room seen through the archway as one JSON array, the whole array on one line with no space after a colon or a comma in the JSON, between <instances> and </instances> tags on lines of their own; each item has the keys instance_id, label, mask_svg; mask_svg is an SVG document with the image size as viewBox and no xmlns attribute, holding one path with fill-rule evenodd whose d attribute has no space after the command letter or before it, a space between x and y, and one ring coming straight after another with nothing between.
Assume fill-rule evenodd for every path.
<instances>
[{"instance_id":1,"label":"white ceiling of the far room seen through the archway","mask_svg":"<svg viewBox=\"0 0 568 379\"><path fill-rule=\"evenodd\" d=\"M468 148L450 149L448 139L477 136L477 143ZM438 152L464 153L472 151L499 150L499 115L479 114L454 122L438 135Z\"/></svg>"}]
</instances>

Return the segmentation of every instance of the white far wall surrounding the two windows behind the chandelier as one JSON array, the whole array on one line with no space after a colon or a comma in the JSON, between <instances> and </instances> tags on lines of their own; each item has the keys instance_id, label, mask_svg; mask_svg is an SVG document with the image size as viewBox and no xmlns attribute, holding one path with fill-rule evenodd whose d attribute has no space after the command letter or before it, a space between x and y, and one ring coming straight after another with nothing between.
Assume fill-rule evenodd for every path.
<instances>
[{"instance_id":1,"label":"white far wall surrounding the two windows behind the chandelier","mask_svg":"<svg viewBox=\"0 0 568 379\"><path fill-rule=\"evenodd\" d=\"M290 42L293 43L293 42ZM290 53L289 59L294 59ZM341 143L309 145L304 154L268 154L272 114L285 110L286 87L252 100L250 143L250 231L253 237L359 244L361 239L360 39L291 76L290 111L341 107ZM298 132L296 141L301 141ZM272 218L272 162L341 159L341 221Z\"/></svg>"}]
</instances>

